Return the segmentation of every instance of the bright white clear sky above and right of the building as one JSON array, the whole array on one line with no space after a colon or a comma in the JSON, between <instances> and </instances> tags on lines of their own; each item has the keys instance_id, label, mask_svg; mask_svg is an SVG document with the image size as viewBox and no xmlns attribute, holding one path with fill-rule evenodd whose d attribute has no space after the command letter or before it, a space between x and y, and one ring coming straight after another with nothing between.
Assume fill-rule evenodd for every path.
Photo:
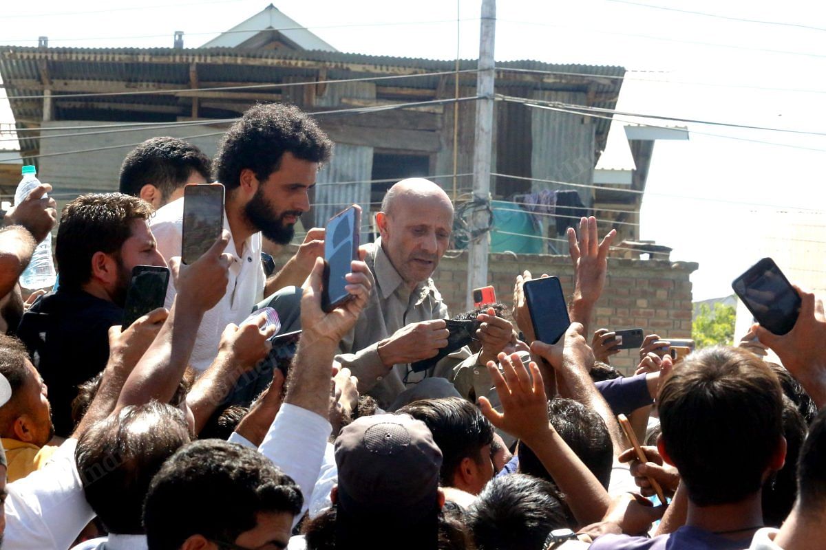
<instances>
[{"instance_id":1,"label":"bright white clear sky above and right of the building","mask_svg":"<svg viewBox=\"0 0 826 550\"><path fill-rule=\"evenodd\" d=\"M826 3L634 2L499 0L496 59L622 65L630 73L619 110L826 133ZM266 4L3 2L0 44L36 45L38 35L48 35L50 46L171 46L173 32L184 31L185 45L194 47ZM460 54L475 58L480 0L458 4ZM456 55L457 2L284 0L275 5L341 51L431 59ZM7 107L0 106L0 121L10 119ZM826 211L826 137L688 127L689 141L659 142L654 148L641 231L643 238L673 247L673 259L700 263L692 277L695 299L707 299L730 294L731 280L762 257L757 235L799 235L798 228L789 227L798 223L795 209ZM777 208L791 209L791 215L778 217ZM811 228L808 238L814 234L826 241L826 214L814 219L822 227ZM805 220L813 224L811 216ZM811 264L826 278L824 257L812 257Z\"/></svg>"}]
</instances>

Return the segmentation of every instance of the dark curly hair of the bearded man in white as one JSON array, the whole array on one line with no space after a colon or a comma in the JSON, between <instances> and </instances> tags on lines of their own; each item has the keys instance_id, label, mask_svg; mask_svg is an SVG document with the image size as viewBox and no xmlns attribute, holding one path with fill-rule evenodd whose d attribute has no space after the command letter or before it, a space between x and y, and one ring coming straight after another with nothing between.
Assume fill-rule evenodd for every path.
<instances>
[{"instance_id":1,"label":"dark curly hair of the bearded man in white","mask_svg":"<svg viewBox=\"0 0 826 550\"><path fill-rule=\"evenodd\" d=\"M330 160L333 142L296 106L268 103L250 107L221 138L212 162L217 181L231 191L249 168L259 181L278 170L284 153L309 162Z\"/></svg>"}]
</instances>

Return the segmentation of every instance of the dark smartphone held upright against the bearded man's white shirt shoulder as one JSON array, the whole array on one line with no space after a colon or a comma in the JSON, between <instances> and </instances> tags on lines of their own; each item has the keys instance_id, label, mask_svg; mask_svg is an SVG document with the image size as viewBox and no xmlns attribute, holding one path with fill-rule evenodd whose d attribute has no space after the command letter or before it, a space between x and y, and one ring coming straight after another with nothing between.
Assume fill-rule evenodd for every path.
<instances>
[{"instance_id":1,"label":"dark smartphone held upright against the bearded man's white shirt shoulder","mask_svg":"<svg viewBox=\"0 0 826 550\"><path fill-rule=\"evenodd\" d=\"M191 264L221 237L224 228L224 186L220 183L183 188L181 261Z\"/></svg>"}]
</instances>

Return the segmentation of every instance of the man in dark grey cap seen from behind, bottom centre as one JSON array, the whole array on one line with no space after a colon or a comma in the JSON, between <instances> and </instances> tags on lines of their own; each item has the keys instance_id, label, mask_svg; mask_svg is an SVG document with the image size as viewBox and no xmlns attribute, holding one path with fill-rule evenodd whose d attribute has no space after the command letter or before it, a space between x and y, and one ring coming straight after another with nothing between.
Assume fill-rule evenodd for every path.
<instances>
[{"instance_id":1,"label":"man in dark grey cap seen from behind, bottom centre","mask_svg":"<svg viewBox=\"0 0 826 550\"><path fill-rule=\"evenodd\" d=\"M466 547L463 527L444 516L442 453L424 422L359 418L335 440L335 463L333 507L306 524L309 550Z\"/></svg>"}]
</instances>

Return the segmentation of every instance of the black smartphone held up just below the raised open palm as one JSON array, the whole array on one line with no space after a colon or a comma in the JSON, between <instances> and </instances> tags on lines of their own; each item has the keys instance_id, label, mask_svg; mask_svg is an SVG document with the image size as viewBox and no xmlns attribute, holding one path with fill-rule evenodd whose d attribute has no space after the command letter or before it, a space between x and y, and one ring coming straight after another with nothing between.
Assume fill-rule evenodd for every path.
<instances>
[{"instance_id":1,"label":"black smartphone held up just below the raised open palm","mask_svg":"<svg viewBox=\"0 0 826 550\"><path fill-rule=\"evenodd\" d=\"M559 278L529 280L523 289L536 339L546 344L556 344L571 325Z\"/></svg>"}]
</instances>

